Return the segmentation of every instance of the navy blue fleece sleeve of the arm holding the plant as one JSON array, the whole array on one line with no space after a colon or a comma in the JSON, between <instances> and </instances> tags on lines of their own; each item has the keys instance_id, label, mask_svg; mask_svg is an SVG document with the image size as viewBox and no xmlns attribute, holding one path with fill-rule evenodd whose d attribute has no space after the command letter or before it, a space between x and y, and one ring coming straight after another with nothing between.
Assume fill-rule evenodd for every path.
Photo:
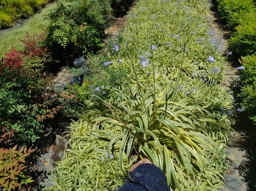
<instances>
[{"instance_id":1,"label":"navy blue fleece sleeve of the arm holding the plant","mask_svg":"<svg viewBox=\"0 0 256 191\"><path fill-rule=\"evenodd\" d=\"M129 173L118 191L170 191L170 187L161 169L153 164L141 164Z\"/></svg>"}]
</instances>

